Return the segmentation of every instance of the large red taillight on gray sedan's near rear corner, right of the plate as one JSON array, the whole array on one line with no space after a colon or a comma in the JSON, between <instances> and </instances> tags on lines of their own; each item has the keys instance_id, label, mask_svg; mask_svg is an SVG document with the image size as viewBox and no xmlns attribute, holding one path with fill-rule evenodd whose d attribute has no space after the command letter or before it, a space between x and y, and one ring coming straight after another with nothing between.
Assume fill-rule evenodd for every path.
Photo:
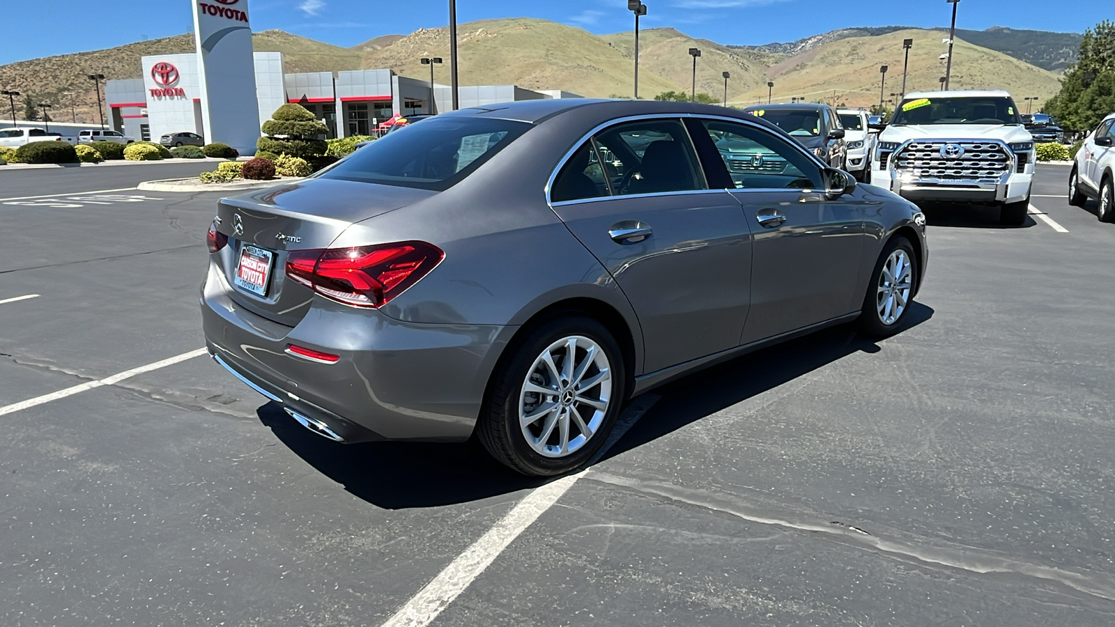
<instances>
[{"instance_id":1,"label":"large red taillight on gray sedan's near rear corner, right of the plate","mask_svg":"<svg viewBox=\"0 0 1115 627\"><path fill-rule=\"evenodd\" d=\"M382 307L445 258L426 242L299 250L287 255L287 276L326 298L353 307Z\"/></svg>"}]
</instances>

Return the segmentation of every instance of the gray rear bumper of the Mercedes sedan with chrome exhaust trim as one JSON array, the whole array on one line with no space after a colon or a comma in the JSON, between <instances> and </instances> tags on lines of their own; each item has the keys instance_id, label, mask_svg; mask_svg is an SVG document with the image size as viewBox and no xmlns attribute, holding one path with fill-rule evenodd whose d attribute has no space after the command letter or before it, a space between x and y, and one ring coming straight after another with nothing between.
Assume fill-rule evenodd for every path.
<instances>
[{"instance_id":1,"label":"gray rear bumper of the Mercedes sedan with chrome exhaust trim","mask_svg":"<svg viewBox=\"0 0 1115 627\"><path fill-rule=\"evenodd\" d=\"M232 290L211 263L201 298L210 354L303 425L345 442L467 440L515 330L404 322L321 297L287 327L244 310ZM288 353L291 344L340 359L312 361Z\"/></svg>"}]
</instances>

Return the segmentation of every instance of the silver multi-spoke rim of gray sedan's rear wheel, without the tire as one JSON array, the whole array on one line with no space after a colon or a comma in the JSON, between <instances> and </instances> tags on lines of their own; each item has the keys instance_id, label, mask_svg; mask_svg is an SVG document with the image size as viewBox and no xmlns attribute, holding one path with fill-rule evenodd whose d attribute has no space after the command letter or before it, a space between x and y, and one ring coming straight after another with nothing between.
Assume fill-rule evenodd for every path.
<instances>
[{"instance_id":1,"label":"silver multi-spoke rim of gray sedan's rear wheel, without the tire","mask_svg":"<svg viewBox=\"0 0 1115 627\"><path fill-rule=\"evenodd\" d=\"M612 398L608 356L595 341L570 336L551 344L523 382L518 424L526 443L545 457L564 457L600 430Z\"/></svg>"}]
</instances>

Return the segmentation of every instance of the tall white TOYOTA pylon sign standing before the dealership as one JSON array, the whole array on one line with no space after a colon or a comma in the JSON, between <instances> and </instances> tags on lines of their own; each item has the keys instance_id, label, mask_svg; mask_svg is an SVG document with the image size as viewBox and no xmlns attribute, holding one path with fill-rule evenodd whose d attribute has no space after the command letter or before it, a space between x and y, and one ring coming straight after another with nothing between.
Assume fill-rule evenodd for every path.
<instances>
[{"instance_id":1,"label":"tall white TOYOTA pylon sign standing before the dealership","mask_svg":"<svg viewBox=\"0 0 1115 627\"><path fill-rule=\"evenodd\" d=\"M191 1L205 141L254 154L260 113L248 0Z\"/></svg>"}]
</instances>

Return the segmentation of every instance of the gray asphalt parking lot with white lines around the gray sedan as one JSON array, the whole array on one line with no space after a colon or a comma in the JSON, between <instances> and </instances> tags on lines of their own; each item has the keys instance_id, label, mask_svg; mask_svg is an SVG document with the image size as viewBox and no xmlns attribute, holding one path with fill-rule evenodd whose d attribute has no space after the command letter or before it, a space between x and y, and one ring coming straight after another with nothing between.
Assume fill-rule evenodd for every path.
<instances>
[{"instance_id":1,"label":"gray asphalt parking lot with white lines around the gray sedan","mask_svg":"<svg viewBox=\"0 0 1115 627\"><path fill-rule=\"evenodd\" d=\"M129 190L184 167L0 170L0 625L1115 620L1115 224L1065 166L1024 226L929 213L906 331L660 388L554 483L201 355L217 194Z\"/></svg>"}]
</instances>

